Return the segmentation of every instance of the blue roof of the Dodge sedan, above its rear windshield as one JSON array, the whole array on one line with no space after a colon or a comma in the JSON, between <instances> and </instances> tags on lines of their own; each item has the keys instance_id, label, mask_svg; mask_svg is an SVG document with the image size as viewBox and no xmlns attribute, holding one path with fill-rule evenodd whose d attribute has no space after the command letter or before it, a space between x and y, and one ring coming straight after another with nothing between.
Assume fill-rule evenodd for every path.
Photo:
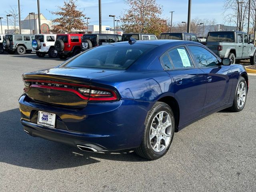
<instances>
[{"instance_id":1,"label":"blue roof of the Dodge sedan, above its rear windshield","mask_svg":"<svg viewBox=\"0 0 256 192\"><path fill-rule=\"evenodd\" d=\"M148 44L148 45L164 45L164 44L175 44L175 45L180 45L180 44L199 44L202 45L198 42L194 41L183 41L183 40L168 40L168 39L158 39L158 40L137 40L135 44ZM129 44L128 41L122 41L122 42L117 42L115 44Z\"/></svg>"}]
</instances>

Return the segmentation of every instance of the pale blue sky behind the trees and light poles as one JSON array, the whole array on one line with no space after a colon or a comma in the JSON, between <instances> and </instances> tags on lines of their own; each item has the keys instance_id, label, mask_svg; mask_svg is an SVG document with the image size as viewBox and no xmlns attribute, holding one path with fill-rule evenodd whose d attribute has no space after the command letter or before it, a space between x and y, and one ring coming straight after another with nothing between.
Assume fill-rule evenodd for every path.
<instances>
[{"instance_id":1,"label":"pale blue sky behind the trees and light poles","mask_svg":"<svg viewBox=\"0 0 256 192\"><path fill-rule=\"evenodd\" d=\"M54 16L49 11L54 11L57 6L63 6L64 0L40 0L40 12L49 20ZM187 20L188 0L156 0L163 6L162 18L170 18L170 11L173 13L173 22ZM90 17L90 24L98 24L98 0L78 0L80 10L84 10L86 17ZM224 24L223 21L223 0L192 0L192 18L213 19L218 24ZM4 17L2 24L6 25L6 13L10 6L18 7L18 0L1 0L0 17ZM20 0L22 10L21 19L23 20L29 12L37 13L37 0ZM124 0L102 0L102 25L113 26L113 18L109 14L121 16L127 6Z\"/></svg>"}]
</instances>

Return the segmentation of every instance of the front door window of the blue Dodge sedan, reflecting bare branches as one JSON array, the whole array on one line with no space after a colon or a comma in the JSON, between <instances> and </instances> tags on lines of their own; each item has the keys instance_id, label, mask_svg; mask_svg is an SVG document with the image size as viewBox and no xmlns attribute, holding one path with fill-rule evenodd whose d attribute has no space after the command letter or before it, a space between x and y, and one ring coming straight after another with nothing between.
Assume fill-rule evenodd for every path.
<instances>
[{"instance_id":1,"label":"front door window of the blue Dodge sedan, reflecting bare branches","mask_svg":"<svg viewBox=\"0 0 256 192\"><path fill-rule=\"evenodd\" d=\"M219 61L211 52L200 46L189 46L199 67L218 66Z\"/></svg>"}]
</instances>

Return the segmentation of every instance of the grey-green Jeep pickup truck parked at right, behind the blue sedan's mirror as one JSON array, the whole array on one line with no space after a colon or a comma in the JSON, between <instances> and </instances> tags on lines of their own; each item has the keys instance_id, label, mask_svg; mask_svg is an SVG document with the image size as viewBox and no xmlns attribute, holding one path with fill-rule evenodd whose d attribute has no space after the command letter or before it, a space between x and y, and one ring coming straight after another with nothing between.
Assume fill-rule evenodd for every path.
<instances>
[{"instance_id":1,"label":"grey-green Jeep pickup truck parked at right, behind the blue sedan's mirror","mask_svg":"<svg viewBox=\"0 0 256 192\"><path fill-rule=\"evenodd\" d=\"M256 47L245 32L208 32L205 46L220 58L230 58L231 64L244 59L250 59L252 65L256 64Z\"/></svg>"}]
</instances>

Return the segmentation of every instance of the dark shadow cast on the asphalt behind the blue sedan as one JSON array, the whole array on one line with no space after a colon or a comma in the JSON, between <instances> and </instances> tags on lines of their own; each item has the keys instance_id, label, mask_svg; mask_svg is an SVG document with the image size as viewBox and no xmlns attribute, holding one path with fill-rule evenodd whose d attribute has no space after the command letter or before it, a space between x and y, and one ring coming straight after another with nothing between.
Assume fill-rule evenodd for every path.
<instances>
[{"instance_id":1,"label":"dark shadow cast on the asphalt behind the blue sedan","mask_svg":"<svg viewBox=\"0 0 256 192\"><path fill-rule=\"evenodd\" d=\"M40 170L71 168L104 159L126 162L147 161L131 150L84 152L64 144L28 136L20 123L18 108L0 112L0 162Z\"/></svg>"}]
</instances>

